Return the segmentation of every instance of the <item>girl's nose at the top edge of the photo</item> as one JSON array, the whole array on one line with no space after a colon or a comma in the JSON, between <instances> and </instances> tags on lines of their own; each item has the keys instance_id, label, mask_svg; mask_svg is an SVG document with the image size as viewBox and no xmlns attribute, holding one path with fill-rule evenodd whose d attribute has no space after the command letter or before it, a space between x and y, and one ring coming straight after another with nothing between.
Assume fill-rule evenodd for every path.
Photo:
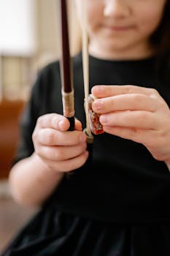
<instances>
[{"instance_id":1,"label":"girl's nose at the top edge of the photo","mask_svg":"<svg viewBox=\"0 0 170 256\"><path fill-rule=\"evenodd\" d=\"M93 0L92 0L93 1ZM126 0L106 0L104 1L104 16L123 18L130 13L130 7Z\"/></svg>"}]
</instances>

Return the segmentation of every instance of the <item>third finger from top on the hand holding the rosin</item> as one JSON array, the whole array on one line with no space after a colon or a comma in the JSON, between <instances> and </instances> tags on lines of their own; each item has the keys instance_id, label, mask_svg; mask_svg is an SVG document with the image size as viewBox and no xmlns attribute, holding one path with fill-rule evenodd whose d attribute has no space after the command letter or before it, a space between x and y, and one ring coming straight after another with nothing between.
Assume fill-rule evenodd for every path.
<instances>
[{"instance_id":1,"label":"third finger from top on the hand holding the rosin","mask_svg":"<svg viewBox=\"0 0 170 256\"><path fill-rule=\"evenodd\" d=\"M158 121L155 115L148 111L120 111L100 116L103 126L135 127L141 129L156 129Z\"/></svg>"}]
</instances>

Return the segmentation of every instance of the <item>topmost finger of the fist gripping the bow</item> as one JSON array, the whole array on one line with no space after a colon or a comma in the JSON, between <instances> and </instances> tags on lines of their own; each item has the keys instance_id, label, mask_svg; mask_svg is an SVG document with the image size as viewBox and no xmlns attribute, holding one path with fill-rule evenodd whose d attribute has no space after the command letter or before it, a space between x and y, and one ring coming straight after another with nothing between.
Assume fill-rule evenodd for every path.
<instances>
[{"instance_id":1,"label":"topmost finger of the fist gripping the bow","mask_svg":"<svg viewBox=\"0 0 170 256\"><path fill-rule=\"evenodd\" d=\"M66 131L69 129L69 120L56 113L46 114L44 116L40 116L37 120L37 124L41 128L52 128L58 129L61 131Z\"/></svg>"}]
</instances>

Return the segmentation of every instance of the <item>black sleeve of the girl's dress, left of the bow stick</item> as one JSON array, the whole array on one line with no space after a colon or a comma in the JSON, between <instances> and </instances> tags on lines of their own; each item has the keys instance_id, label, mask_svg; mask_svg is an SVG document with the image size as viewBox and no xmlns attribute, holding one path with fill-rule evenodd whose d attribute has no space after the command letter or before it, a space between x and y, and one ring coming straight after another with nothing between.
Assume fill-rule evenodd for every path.
<instances>
[{"instance_id":1,"label":"black sleeve of the girl's dress, left of the bow stick","mask_svg":"<svg viewBox=\"0 0 170 256\"><path fill-rule=\"evenodd\" d=\"M58 61L48 64L37 76L31 90L31 97L20 117L20 140L12 165L33 154L32 134L36 126L36 120L46 113L63 113L61 75Z\"/></svg>"}]
</instances>

